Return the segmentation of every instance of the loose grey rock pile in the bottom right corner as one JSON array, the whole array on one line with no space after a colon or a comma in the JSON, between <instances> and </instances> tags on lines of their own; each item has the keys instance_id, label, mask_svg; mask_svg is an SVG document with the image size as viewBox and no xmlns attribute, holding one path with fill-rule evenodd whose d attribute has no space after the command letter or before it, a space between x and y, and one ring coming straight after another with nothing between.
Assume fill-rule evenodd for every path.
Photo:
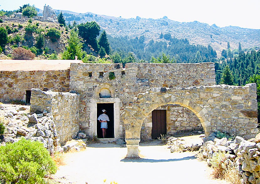
<instances>
[{"instance_id":1,"label":"loose grey rock pile in the bottom right corner","mask_svg":"<svg viewBox=\"0 0 260 184\"><path fill-rule=\"evenodd\" d=\"M204 140L202 155L208 165L211 165L211 159L217 152L225 152L226 160L242 176L241 183L260 183L260 134L249 140L237 136L233 141L226 137L217 139L211 134Z\"/></svg>"}]
</instances>

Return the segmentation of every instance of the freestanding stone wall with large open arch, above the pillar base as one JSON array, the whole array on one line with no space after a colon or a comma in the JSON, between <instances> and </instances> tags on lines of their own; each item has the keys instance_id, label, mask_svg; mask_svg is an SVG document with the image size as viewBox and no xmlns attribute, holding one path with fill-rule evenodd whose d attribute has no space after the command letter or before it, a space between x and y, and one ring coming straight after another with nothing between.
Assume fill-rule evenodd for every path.
<instances>
[{"instance_id":1,"label":"freestanding stone wall with large open arch, above the pillar base","mask_svg":"<svg viewBox=\"0 0 260 184\"><path fill-rule=\"evenodd\" d=\"M140 139L145 117L165 104L189 108L200 119L208 136L221 131L250 139L257 134L256 84L241 86L213 85L187 88L150 88L139 93L122 119L126 139Z\"/></svg>"}]
</instances>

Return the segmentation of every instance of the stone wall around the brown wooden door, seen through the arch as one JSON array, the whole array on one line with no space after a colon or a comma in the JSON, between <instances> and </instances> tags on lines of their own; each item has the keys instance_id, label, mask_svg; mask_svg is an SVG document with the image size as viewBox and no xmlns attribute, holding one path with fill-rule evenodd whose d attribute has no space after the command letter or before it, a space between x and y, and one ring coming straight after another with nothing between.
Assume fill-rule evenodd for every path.
<instances>
[{"instance_id":1,"label":"stone wall around the brown wooden door, seen through the arch","mask_svg":"<svg viewBox=\"0 0 260 184\"><path fill-rule=\"evenodd\" d=\"M156 109L166 110L167 135L174 135L178 131L203 130L199 118L190 109L176 104L160 106ZM152 113L143 120L141 140L152 139Z\"/></svg>"}]
</instances>

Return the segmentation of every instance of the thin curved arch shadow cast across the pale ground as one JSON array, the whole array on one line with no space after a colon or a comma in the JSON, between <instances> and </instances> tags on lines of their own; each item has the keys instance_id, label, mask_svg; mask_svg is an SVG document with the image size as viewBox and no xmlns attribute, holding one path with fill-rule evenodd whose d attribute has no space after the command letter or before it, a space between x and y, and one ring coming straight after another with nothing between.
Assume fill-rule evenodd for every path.
<instances>
[{"instance_id":1,"label":"thin curved arch shadow cast across the pale ground","mask_svg":"<svg viewBox=\"0 0 260 184\"><path fill-rule=\"evenodd\" d=\"M174 162L174 161L193 160L193 159L196 159L196 157L195 156L187 156L187 157L184 157L184 158L168 159L168 160L154 160L154 159L144 159L144 158L138 158L138 159L124 158L120 161L121 162Z\"/></svg>"}]
</instances>

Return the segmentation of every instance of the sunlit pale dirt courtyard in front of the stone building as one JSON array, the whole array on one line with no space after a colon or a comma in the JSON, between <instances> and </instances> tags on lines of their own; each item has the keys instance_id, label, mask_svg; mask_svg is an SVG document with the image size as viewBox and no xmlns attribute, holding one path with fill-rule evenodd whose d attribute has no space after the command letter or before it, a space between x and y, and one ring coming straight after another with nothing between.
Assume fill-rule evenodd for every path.
<instances>
[{"instance_id":1,"label":"sunlit pale dirt courtyard in front of the stone building","mask_svg":"<svg viewBox=\"0 0 260 184\"><path fill-rule=\"evenodd\" d=\"M156 145L157 144L157 145ZM158 142L141 144L141 159L124 159L127 148L114 144L92 144L81 152L65 154L65 164L55 177L67 183L118 184L200 183L226 184L211 179L211 169L194 157L194 152L170 153Z\"/></svg>"}]
</instances>

